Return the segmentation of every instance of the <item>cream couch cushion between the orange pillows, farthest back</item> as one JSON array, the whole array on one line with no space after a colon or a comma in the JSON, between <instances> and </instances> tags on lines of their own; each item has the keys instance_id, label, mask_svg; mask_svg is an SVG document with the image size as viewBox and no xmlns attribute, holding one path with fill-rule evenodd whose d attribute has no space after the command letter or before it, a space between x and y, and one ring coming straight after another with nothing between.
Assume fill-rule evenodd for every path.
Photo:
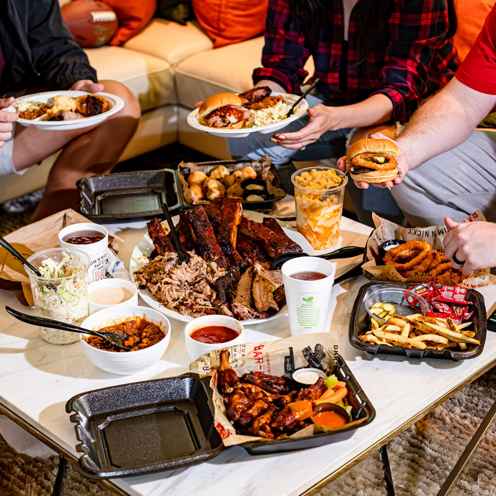
<instances>
[{"instance_id":1,"label":"cream couch cushion between the orange pillows, farthest back","mask_svg":"<svg viewBox=\"0 0 496 496\"><path fill-rule=\"evenodd\" d=\"M213 42L196 21L182 26L165 19L152 19L124 47L164 59L173 65L198 52L210 50Z\"/></svg>"}]
</instances>

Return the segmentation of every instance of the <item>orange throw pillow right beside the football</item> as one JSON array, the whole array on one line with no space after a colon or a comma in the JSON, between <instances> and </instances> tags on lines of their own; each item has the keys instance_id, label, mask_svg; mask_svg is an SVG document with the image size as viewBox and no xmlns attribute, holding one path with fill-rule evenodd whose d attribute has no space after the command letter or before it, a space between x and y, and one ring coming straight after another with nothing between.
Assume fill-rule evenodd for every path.
<instances>
[{"instance_id":1,"label":"orange throw pillow right beside the football","mask_svg":"<svg viewBox=\"0 0 496 496\"><path fill-rule=\"evenodd\" d=\"M119 17L119 29L109 45L122 45L138 34L157 10L157 0L103 0Z\"/></svg>"}]
</instances>

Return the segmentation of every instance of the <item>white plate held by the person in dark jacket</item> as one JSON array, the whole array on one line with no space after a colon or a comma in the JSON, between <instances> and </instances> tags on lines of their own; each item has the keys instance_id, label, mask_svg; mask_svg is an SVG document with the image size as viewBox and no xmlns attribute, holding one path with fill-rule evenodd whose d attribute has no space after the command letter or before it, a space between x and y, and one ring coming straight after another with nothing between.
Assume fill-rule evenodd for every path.
<instances>
[{"instance_id":1,"label":"white plate held by the person in dark jacket","mask_svg":"<svg viewBox=\"0 0 496 496\"><path fill-rule=\"evenodd\" d=\"M58 90L58 91L44 91L42 93L33 93L32 95L24 95L16 98L14 101L17 102L19 100L26 100L27 102L42 102L46 103L50 98L53 98L57 95L65 95L70 96L72 98L88 95L89 93L86 91L75 91L75 90ZM74 121L40 121L40 118L36 119L18 119L17 122L21 125L28 126L34 125L39 129L50 129L56 131L62 131L66 129L81 129L82 127L89 127L90 125L100 124L105 121L108 117L113 114L119 112L124 107L124 100L117 96L111 95L110 93L94 93L95 95L101 95L105 97L110 104L110 109L103 114L99 114L98 116L92 117L83 117L82 119L76 119ZM10 106L4 109L8 112L16 112L14 106Z\"/></svg>"}]
</instances>

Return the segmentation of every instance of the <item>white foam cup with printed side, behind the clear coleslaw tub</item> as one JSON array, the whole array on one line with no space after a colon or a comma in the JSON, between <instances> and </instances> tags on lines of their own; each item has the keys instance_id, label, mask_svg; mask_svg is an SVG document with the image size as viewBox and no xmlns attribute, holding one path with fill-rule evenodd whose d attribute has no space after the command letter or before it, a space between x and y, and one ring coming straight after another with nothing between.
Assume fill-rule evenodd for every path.
<instances>
[{"instance_id":1,"label":"white foam cup with printed side, behind the clear coleslaw tub","mask_svg":"<svg viewBox=\"0 0 496 496\"><path fill-rule=\"evenodd\" d=\"M98 231L104 235L103 239L89 245L72 245L63 241L63 238L74 236L84 231ZM88 270L88 283L98 281L105 277L105 264L107 262L107 247L109 245L109 232L103 226L93 222L80 222L64 227L59 232L59 246L61 248L77 248L86 253L91 259Z\"/></svg>"}]
</instances>

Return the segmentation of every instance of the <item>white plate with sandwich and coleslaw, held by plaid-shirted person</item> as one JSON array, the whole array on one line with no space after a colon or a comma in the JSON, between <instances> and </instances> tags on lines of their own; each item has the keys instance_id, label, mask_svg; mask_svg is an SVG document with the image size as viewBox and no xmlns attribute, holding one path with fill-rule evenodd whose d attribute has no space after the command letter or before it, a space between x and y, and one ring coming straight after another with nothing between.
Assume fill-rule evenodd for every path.
<instances>
[{"instance_id":1,"label":"white plate with sandwich and coleslaw, held by plaid-shirted person","mask_svg":"<svg viewBox=\"0 0 496 496\"><path fill-rule=\"evenodd\" d=\"M277 93L272 92L270 96L283 96L284 100L288 105L293 105L300 97L298 95L292 95L291 93ZM286 127L288 124L300 119L300 117L307 112L309 108L309 104L305 98L295 107L294 114L287 119L284 119L281 122L275 124L267 124L259 127L248 127L247 129L222 129L216 127L208 127L206 125L202 125L198 122L198 109L194 109L187 116L187 123L194 127L195 129L199 129L200 131L207 131L214 136L222 136L224 138L245 138L251 132L260 132L262 134L268 134L276 132L283 127Z\"/></svg>"}]
</instances>

